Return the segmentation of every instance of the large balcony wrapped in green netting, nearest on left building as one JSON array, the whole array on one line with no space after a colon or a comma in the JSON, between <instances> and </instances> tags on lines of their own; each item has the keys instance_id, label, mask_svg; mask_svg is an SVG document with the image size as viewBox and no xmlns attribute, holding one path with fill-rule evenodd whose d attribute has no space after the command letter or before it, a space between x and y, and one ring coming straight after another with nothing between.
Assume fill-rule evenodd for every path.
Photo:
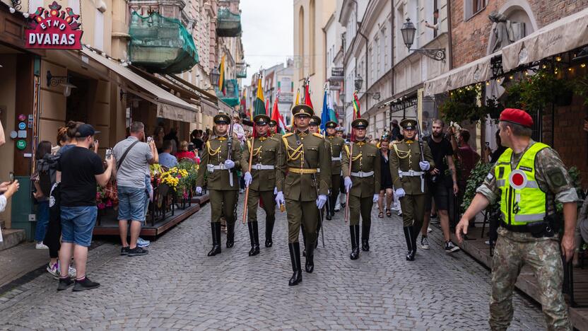
<instances>
[{"instance_id":1,"label":"large balcony wrapped in green netting, nearest on left building","mask_svg":"<svg viewBox=\"0 0 588 331\"><path fill-rule=\"evenodd\" d=\"M160 74L180 74L199 62L192 35L176 19L134 12L129 35L129 57L135 66Z\"/></svg>"}]
</instances>

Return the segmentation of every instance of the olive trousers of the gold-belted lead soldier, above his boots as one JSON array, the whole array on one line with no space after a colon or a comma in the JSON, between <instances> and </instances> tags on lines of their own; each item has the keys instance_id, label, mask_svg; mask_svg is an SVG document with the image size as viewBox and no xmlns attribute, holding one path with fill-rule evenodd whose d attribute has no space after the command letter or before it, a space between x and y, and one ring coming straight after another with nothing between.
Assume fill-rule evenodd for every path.
<instances>
[{"instance_id":1,"label":"olive trousers of the gold-belted lead soldier, above his boots","mask_svg":"<svg viewBox=\"0 0 588 331\"><path fill-rule=\"evenodd\" d=\"M307 243L317 240L319 209L317 202L286 199L286 217L288 219L288 243L298 243L300 225L304 225Z\"/></svg>"}]
</instances>

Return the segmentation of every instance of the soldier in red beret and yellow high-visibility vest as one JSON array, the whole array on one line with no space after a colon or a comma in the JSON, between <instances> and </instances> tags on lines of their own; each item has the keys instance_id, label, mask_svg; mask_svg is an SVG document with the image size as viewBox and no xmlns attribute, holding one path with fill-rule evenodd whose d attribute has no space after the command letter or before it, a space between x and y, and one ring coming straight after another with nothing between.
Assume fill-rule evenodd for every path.
<instances>
[{"instance_id":1,"label":"soldier in red beret and yellow high-visibility vest","mask_svg":"<svg viewBox=\"0 0 588 331\"><path fill-rule=\"evenodd\" d=\"M561 255L574 254L578 196L557 152L531 139L533 119L524 110L500 114L500 139L509 147L493 166L455 229L467 234L468 223L490 204L500 202L501 220L492 261L490 328L506 330L512 320L512 289L521 268L529 265L539 284L549 330L572 330L562 294ZM563 221L555 204L563 204ZM563 237L559 243L559 228ZM560 250L561 245L561 250Z\"/></svg>"}]
</instances>

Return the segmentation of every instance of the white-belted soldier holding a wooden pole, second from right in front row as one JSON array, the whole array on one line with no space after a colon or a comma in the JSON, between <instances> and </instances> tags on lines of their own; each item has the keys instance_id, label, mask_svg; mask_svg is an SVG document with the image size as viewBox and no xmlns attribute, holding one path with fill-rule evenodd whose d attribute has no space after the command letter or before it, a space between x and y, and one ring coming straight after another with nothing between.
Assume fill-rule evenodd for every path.
<instances>
[{"instance_id":1,"label":"white-belted soldier holding a wooden pole, second from right in front row","mask_svg":"<svg viewBox=\"0 0 588 331\"><path fill-rule=\"evenodd\" d=\"M376 146L365 140L367 127L365 118L351 122L355 129L353 151L345 145L343 153L343 176L345 189L349 192L349 231L351 232L351 260L359 257L359 218L361 215L361 250L370 250L370 227L372 207L380 197L380 155ZM353 153L353 155L351 155ZM351 161L350 161L351 160ZM351 162L351 173L349 172Z\"/></svg>"}]
</instances>

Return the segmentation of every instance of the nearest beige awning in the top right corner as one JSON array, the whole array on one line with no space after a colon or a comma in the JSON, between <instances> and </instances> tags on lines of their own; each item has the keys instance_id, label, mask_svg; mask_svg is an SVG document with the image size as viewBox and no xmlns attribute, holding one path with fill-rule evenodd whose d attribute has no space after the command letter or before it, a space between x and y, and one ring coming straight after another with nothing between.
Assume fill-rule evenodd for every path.
<instances>
[{"instance_id":1,"label":"nearest beige awning in the top right corner","mask_svg":"<svg viewBox=\"0 0 588 331\"><path fill-rule=\"evenodd\" d=\"M588 8L548 24L502 48L502 68L507 72L521 64L536 62L587 44Z\"/></svg>"}]
</instances>

